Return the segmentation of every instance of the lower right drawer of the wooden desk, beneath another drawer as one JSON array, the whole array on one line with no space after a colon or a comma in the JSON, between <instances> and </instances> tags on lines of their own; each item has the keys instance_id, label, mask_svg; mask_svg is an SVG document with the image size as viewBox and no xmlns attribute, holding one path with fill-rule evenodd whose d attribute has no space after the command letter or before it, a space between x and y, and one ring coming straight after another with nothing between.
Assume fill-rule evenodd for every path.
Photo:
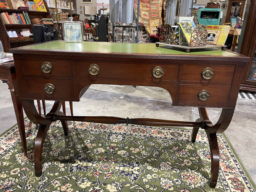
<instances>
[{"instance_id":1,"label":"lower right drawer of the wooden desk, beneath another drawer","mask_svg":"<svg viewBox=\"0 0 256 192\"><path fill-rule=\"evenodd\" d=\"M209 98L205 101L199 99L199 93L206 90ZM229 85L180 85L178 94L179 104L188 104L191 106L225 106L228 105L230 95Z\"/></svg>"}]
</instances>

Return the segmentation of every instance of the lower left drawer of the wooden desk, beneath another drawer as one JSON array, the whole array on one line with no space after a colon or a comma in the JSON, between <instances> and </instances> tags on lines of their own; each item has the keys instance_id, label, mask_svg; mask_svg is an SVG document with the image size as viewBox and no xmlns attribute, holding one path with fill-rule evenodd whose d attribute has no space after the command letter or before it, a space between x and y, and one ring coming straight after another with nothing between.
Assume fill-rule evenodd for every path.
<instances>
[{"instance_id":1,"label":"lower left drawer of the wooden desk, beneath another drawer","mask_svg":"<svg viewBox=\"0 0 256 192\"><path fill-rule=\"evenodd\" d=\"M73 82L71 80L58 80L58 79L36 79L26 78L24 79L26 86L23 86L22 90L19 90L22 98L31 99L46 99L46 100L68 100L73 99ZM47 85L54 86L54 92L47 94L44 89Z\"/></svg>"}]
</instances>

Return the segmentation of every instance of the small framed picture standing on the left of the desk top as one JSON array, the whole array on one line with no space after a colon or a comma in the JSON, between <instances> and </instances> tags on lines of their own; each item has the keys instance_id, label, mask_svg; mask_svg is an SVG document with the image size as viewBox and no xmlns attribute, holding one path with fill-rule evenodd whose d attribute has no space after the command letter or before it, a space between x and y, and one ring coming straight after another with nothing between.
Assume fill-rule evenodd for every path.
<instances>
[{"instance_id":1,"label":"small framed picture standing on the left of the desk top","mask_svg":"<svg viewBox=\"0 0 256 192\"><path fill-rule=\"evenodd\" d=\"M63 22L64 41L82 42L82 22Z\"/></svg>"}]
</instances>

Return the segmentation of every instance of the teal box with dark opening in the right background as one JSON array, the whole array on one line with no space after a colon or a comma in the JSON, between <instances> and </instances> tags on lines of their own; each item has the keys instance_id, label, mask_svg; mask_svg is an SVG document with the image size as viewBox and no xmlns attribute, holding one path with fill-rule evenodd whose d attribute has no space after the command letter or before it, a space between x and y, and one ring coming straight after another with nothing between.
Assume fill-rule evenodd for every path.
<instances>
[{"instance_id":1,"label":"teal box with dark opening in the right background","mask_svg":"<svg viewBox=\"0 0 256 192\"><path fill-rule=\"evenodd\" d=\"M198 10L198 21L202 25L219 25L221 9L204 8Z\"/></svg>"}]
</instances>

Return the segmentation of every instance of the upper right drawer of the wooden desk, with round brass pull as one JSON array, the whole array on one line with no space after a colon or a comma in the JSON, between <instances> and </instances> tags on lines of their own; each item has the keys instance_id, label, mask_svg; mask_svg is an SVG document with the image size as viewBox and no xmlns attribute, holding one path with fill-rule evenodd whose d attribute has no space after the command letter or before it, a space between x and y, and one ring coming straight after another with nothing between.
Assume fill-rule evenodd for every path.
<instances>
[{"instance_id":1,"label":"upper right drawer of the wooden desk, with round brass pull","mask_svg":"<svg viewBox=\"0 0 256 192\"><path fill-rule=\"evenodd\" d=\"M231 82L234 74L234 65L183 65L181 81L214 81ZM212 78L203 78L202 73L213 71Z\"/></svg>"}]
</instances>

